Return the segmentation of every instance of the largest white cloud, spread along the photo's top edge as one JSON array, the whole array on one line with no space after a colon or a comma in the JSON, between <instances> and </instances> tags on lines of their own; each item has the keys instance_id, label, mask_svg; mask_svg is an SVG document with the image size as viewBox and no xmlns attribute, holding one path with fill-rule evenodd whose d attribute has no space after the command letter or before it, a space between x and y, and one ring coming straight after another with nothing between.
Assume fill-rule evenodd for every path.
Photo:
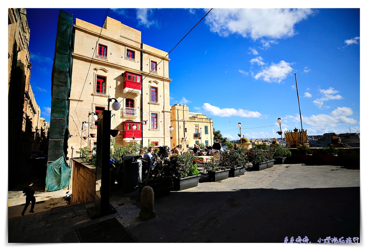
<instances>
[{"instance_id":1,"label":"largest white cloud, spread along the photo's top edge","mask_svg":"<svg viewBox=\"0 0 368 251\"><path fill-rule=\"evenodd\" d=\"M284 38L295 34L294 25L308 15L310 9L213 9L206 18L210 31L220 36L238 33L256 40L262 37Z\"/></svg>"}]
</instances>

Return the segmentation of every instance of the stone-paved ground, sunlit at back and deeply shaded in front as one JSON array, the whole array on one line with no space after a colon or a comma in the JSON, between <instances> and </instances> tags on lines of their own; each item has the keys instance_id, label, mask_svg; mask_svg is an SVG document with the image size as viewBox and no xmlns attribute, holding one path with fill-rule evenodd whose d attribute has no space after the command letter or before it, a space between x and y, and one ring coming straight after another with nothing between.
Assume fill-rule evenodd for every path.
<instances>
[{"instance_id":1,"label":"stone-paved ground, sunlit at back and deeply shaded in front","mask_svg":"<svg viewBox=\"0 0 368 251\"><path fill-rule=\"evenodd\" d=\"M94 220L87 212L93 204L12 215L8 241L79 242L76 229L112 217L141 243L360 238L360 170L354 168L290 164L217 182L202 178L197 187L155 198L156 218L146 221L138 218L138 191L114 192L110 203L117 213Z\"/></svg>"}]
</instances>

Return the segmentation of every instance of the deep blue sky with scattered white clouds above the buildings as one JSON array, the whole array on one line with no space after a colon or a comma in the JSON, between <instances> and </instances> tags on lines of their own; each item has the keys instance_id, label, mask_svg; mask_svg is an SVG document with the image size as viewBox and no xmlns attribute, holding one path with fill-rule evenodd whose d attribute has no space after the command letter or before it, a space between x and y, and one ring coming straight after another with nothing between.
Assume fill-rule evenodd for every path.
<instances>
[{"instance_id":1,"label":"deep blue sky with scattered white clouds above the buildings","mask_svg":"<svg viewBox=\"0 0 368 251\"><path fill-rule=\"evenodd\" d=\"M102 26L107 9L62 10ZM110 9L108 16L169 52L208 10ZM27 8L31 85L48 121L58 14ZM171 105L206 114L229 139L238 139L238 122L247 138L279 137L278 117L283 131L300 128L294 73L308 135L349 132L349 125L360 132L359 9L214 8L169 58Z\"/></svg>"}]
</instances>

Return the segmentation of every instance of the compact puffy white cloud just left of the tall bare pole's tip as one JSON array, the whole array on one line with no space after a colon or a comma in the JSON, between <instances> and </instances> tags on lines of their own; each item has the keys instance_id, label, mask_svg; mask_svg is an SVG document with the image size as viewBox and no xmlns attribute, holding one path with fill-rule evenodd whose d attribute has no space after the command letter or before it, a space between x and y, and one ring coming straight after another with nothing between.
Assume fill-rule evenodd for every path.
<instances>
[{"instance_id":1,"label":"compact puffy white cloud just left of the tall bare pole's tip","mask_svg":"<svg viewBox=\"0 0 368 251\"><path fill-rule=\"evenodd\" d=\"M262 78L266 82L281 82L286 78L287 74L291 73L293 68L290 67L291 63L287 63L281 60L280 63L272 63L270 67L264 68L261 72L257 73L254 78Z\"/></svg>"}]
</instances>

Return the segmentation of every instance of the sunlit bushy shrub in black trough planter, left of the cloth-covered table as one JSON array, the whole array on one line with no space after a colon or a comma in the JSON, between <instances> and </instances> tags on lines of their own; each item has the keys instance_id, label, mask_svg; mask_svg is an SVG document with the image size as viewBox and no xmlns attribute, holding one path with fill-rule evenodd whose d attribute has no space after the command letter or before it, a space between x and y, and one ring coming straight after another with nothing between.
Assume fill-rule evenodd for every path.
<instances>
[{"instance_id":1,"label":"sunlit bushy shrub in black trough planter, left of the cloth-covered table","mask_svg":"<svg viewBox=\"0 0 368 251\"><path fill-rule=\"evenodd\" d=\"M199 182L198 166L193 163L195 155L184 152L182 155L173 155L167 162L166 168L173 173L174 188L181 191L190 187L196 187Z\"/></svg>"}]
</instances>

